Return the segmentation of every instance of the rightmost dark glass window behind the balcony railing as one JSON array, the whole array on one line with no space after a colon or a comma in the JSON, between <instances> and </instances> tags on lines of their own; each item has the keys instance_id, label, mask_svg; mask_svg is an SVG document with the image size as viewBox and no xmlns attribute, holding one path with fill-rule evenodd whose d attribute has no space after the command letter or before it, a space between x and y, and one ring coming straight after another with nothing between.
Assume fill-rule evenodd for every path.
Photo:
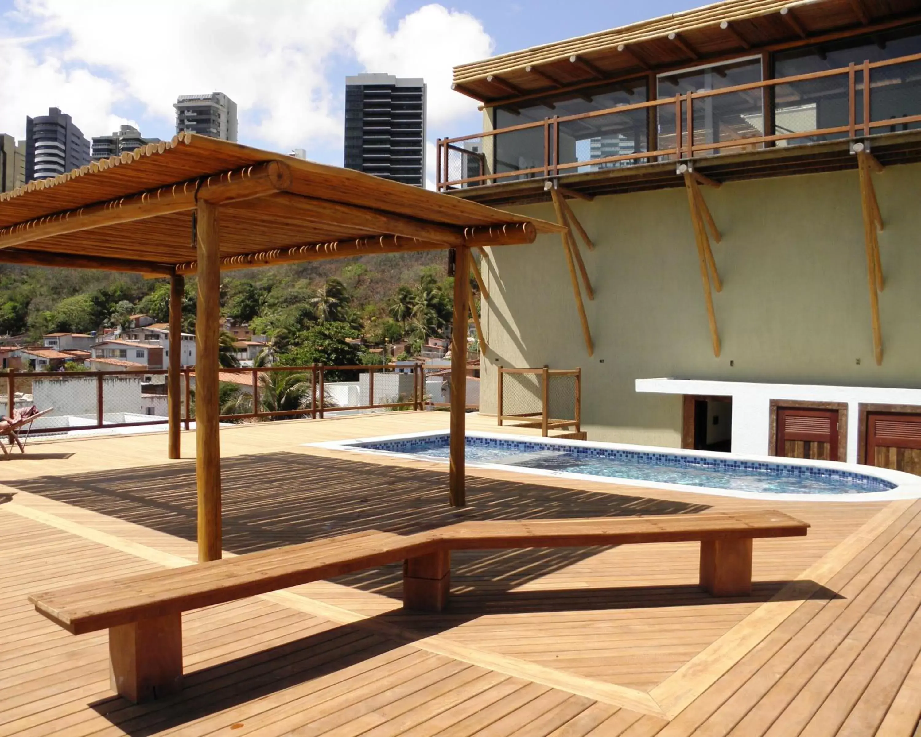
<instances>
[{"instance_id":1,"label":"rightmost dark glass window behind the balcony railing","mask_svg":"<svg viewBox=\"0 0 921 737\"><path fill-rule=\"evenodd\" d=\"M921 53L921 28L880 33L830 44L780 52L774 57L776 78L843 69L850 63L882 62ZM862 124L863 72L857 70L855 121ZM825 76L775 87L775 126L778 133L810 132L849 125L848 77ZM870 121L891 121L921 114L921 62L892 64L870 73ZM880 126L875 133L919 128L919 123ZM848 132L790 138L777 145L846 138Z\"/></svg>"}]
</instances>

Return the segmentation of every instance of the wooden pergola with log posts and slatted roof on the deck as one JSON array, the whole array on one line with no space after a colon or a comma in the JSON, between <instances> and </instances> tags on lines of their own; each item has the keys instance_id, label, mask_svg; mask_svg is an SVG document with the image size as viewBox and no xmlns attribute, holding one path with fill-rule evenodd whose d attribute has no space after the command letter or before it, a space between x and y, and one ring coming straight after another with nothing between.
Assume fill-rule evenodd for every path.
<instances>
[{"instance_id":1,"label":"wooden pergola with log posts and slatted roof on the deck","mask_svg":"<svg viewBox=\"0 0 921 737\"><path fill-rule=\"evenodd\" d=\"M0 195L0 263L169 277L169 457L180 457L184 277L195 327L199 560L221 557L220 272L454 248L449 500L463 506L471 248L532 243L560 225L192 133Z\"/></svg>"}]
</instances>

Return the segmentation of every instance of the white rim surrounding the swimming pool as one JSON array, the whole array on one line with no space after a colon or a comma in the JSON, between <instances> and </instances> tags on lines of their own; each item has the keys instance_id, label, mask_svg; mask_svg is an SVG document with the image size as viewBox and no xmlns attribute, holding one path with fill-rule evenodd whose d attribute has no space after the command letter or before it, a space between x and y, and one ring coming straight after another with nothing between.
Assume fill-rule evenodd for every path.
<instances>
[{"instance_id":1,"label":"white rim surrounding the swimming pool","mask_svg":"<svg viewBox=\"0 0 921 737\"><path fill-rule=\"evenodd\" d=\"M444 458L436 457L419 457L406 453L397 453L395 451L381 451L374 448L359 447L359 443L388 443L398 440L416 440L421 438L437 437L439 435L449 435L447 430L427 431L427 432L403 432L398 435L376 435L366 438L350 438L348 440L326 441L324 443L304 443L305 447L323 448L326 450L344 451L347 453L361 453L364 455L380 455L391 458L401 458L409 461L424 461L427 463L439 463L445 466L448 461ZM657 445L632 445L627 443L599 443L595 441L584 440L565 440L562 438L544 438L533 435L515 435L511 433L499 432L467 432L468 437L478 437L496 440L521 441L524 443L542 443L550 445L571 446L581 448L603 448L607 450L625 450L639 453L659 453L662 455L688 455L694 457L719 458L727 457L733 460L752 461L753 463L769 463L787 466L813 466L820 468L830 468L838 471L848 471L850 473L869 476L872 478L881 478L890 483L896 484L895 489L886 491L864 491L860 493L849 494L781 494L760 491L740 491L737 489L714 489L712 487L689 486L685 484L669 484L660 481L643 481L635 478L614 478L608 476L594 476L591 474L577 474L565 471L550 471L542 468L528 468L527 466L505 466L495 463L473 463L467 462L471 468L487 468L496 471L513 471L528 476L542 476L546 478L569 478L577 481L594 481L600 483L609 483L618 486L641 487L647 489L665 489L669 491L682 491L689 494L705 494L708 496L733 497L736 499L752 499L764 501L899 501L904 499L921 498L921 477L914 474L904 473L903 471L892 471L889 468L878 468L877 466L861 466L854 463L840 463L838 461L812 461L802 458L779 459L775 455L742 455L716 453L713 451L685 450L683 448L664 448Z\"/></svg>"}]
</instances>

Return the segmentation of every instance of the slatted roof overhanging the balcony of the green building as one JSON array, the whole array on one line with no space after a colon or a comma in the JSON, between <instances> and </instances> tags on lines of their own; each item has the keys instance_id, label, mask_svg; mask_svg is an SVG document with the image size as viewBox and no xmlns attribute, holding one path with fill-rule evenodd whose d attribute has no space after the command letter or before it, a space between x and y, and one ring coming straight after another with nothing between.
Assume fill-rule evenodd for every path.
<instances>
[{"instance_id":1,"label":"slatted roof overhanging the balcony of the green building","mask_svg":"<svg viewBox=\"0 0 921 737\"><path fill-rule=\"evenodd\" d=\"M461 64L454 67L454 86L490 104L542 91L549 94L560 86L741 56L836 31L869 28L919 11L918 0L725 0Z\"/></svg>"}]
</instances>

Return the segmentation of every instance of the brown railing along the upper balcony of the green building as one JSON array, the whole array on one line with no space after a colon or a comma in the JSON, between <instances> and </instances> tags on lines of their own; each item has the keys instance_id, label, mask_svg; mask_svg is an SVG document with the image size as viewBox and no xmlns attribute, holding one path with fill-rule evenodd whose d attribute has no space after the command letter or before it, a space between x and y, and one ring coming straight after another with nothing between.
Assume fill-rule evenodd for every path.
<instances>
[{"instance_id":1,"label":"brown railing along the upper balcony of the green building","mask_svg":"<svg viewBox=\"0 0 921 737\"><path fill-rule=\"evenodd\" d=\"M833 82L837 89L831 85ZM906 130L907 126L921 122L921 94L911 93L911 86L916 90L919 84L921 53L441 138L437 140L437 189L495 184L509 178L557 177L578 169L633 166L644 161L693 158L723 150L797 143L799 140L853 139L882 132L881 129L893 131L902 127ZM831 86L816 89L816 86L827 85ZM753 92L761 94L752 95ZM893 92L904 98L897 104L910 108L904 109L904 114L892 114ZM810 99L810 94L816 102L801 104L803 99ZM820 127L818 100L830 96L840 97L845 104L846 122ZM712 109L717 104L735 110L732 113L736 118L735 127L726 125L708 130L699 124L707 117L712 122L712 116L703 114L702 108L709 105ZM876 114L877 109L882 112ZM643 125L639 124L637 116L645 121ZM798 116L805 122L798 124ZM577 160L562 161L561 130L566 143L575 148L576 143L584 144L590 138L576 141L574 134L566 131L574 123L585 121L599 121L600 127L609 131L633 131L628 140L635 149L642 150L596 157L589 153L588 158L580 158L576 153ZM792 128L784 124L790 121ZM521 143L533 155L530 163L534 166L522 167L501 161L496 150L499 136L510 133L521 136L525 132L532 132L528 140L522 139ZM645 140L644 144L638 143L641 139ZM492 171L487 170L490 161L494 164ZM500 167L507 170L497 170ZM460 176L453 176L455 174Z\"/></svg>"}]
</instances>

